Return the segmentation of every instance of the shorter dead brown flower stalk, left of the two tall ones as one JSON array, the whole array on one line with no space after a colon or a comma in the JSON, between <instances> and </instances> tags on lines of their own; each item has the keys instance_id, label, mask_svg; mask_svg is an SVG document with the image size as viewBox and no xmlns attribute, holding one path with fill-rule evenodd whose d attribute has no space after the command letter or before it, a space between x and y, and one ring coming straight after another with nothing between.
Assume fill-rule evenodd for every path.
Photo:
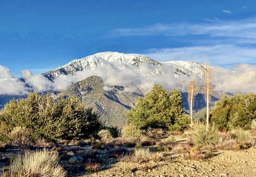
<instances>
[{"instance_id":1,"label":"shorter dead brown flower stalk, left of the two tall ones","mask_svg":"<svg viewBox=\"0 0 256 177\"><path fill-rule=\"evenodd\" d=\"M192 110L193 110L194 103L195 103L195 96L197 94L197 86L196 86L195 77L193 77L189 81L188 87L187 87L187 92L188 92L187 101L188 101L188 106L190 109L190 120L191 120L191 124L192 124L193 123Z\"/></svg>"}]
</instances>

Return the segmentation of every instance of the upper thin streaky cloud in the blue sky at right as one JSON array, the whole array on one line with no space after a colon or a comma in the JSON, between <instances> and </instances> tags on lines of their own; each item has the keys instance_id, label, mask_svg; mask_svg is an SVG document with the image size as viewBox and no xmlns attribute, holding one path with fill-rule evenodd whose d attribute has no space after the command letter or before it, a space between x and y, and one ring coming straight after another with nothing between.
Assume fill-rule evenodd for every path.
<instances>
[{"instance_id":1,"label":"upper thin streaky cloud in the blue sky at right","mask_svg":"<svg viewBox=\"0 0 256 177\"><path fill-rule=\"evenodd\" d=\"M207 23L156 23L139 28L117 28L109 31L112 36L187 36L209 35L207 40L216 37L256 39L256 18L236 21L212 20ZM256 42L254 42L256 43Z\"/></svg>"}]
</instances>

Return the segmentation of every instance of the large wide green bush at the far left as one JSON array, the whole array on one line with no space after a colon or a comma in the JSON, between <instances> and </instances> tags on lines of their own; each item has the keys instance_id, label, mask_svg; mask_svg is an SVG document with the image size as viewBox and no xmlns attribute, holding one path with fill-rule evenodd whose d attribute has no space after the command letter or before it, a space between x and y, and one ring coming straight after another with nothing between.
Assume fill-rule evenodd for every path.
<instances>
[{"instance_id":1,"label":"large wide green bush at the far left","mask_svg":"<svg viewBox=\"0 0 256 177\"><path fill-rule=\"evenodd\" d=\"M18 126L31 129L38 138L72 140L97 137L101 125L98 114L75 97L55 101L49 94L32 92L0 111L0 141L7 141L6 135Z\"/></svg>"}]
</instances>

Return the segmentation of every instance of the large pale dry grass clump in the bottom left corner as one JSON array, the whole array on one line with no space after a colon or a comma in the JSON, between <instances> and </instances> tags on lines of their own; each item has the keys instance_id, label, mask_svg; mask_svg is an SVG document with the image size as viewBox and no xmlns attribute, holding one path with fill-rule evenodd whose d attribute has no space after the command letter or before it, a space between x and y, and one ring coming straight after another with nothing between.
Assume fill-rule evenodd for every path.
<instances>
[{"instance_id":1,"label":"large pale dry grass clump in the bottom left corner","mask_svg":"<svg viewBox=\"0 0 256 177\"><path fill-rule=\"evenodd\" d=\"M58 153L42 151L25 151L10 164L10 176L15 177L65 177L67 172L58 164ZM5 173L3 174L3 176ZM7 177L7 176L6 176Z\"/></svg>"}]
</instances>

